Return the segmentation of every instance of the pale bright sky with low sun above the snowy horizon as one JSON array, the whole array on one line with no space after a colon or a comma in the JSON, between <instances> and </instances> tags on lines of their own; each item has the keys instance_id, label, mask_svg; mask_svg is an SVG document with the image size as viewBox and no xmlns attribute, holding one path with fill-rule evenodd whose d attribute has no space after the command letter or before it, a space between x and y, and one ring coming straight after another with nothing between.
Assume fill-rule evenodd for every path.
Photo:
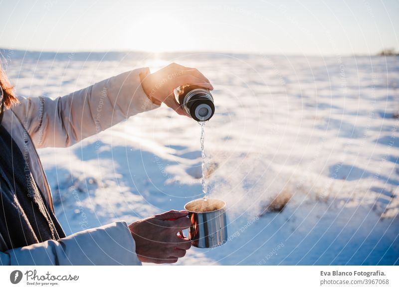
<instances>
[{"instance_id":1,"label":"pale bright sky with low sun above the snowy horizon","mask_svg":"<svg viewBox=\"0 0 399 290\"><path fill-rule=\"evenodd\" d=\"M0 0L0 47L296 55L399 50L398 0Z\"/></svg>"}]
</instances>

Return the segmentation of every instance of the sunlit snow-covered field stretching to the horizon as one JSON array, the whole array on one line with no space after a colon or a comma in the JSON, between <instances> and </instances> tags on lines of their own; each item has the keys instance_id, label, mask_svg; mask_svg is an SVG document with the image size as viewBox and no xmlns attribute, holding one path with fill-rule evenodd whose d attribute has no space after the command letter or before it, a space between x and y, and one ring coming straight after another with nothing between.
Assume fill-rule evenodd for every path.
<instances>
[{"instance_id":1,"label":"sunlit snow-covered field stretching to the horizon","mask_svg":"<svg viewBox=\"0 0 399 290\"><path fill-rule=\"evenodd\" d=\"M399 264L399 57L2 54L31 97L170 62L209 78L207 182L227 202L229 240L178 264ZM67 234L201 197L200 125L164 106L40 155Z\"/></svg>"}]
</instances>

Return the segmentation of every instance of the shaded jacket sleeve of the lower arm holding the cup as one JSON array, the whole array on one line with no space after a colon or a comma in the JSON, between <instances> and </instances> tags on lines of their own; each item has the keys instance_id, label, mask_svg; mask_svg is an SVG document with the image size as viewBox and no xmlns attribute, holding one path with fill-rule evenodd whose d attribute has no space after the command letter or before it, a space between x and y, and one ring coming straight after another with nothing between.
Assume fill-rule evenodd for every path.
<instances>
[{"instance_id":1,"label":"shaded jacket sleeve of the lower arm holding the cup","mask_svg":"<svg viewBox=\"0 0 399 290\"><path fill-rule=\"evenodd\" d=\"M0 252L0 265L142 265L124 221Z\"/></svg>"}]
</instances>

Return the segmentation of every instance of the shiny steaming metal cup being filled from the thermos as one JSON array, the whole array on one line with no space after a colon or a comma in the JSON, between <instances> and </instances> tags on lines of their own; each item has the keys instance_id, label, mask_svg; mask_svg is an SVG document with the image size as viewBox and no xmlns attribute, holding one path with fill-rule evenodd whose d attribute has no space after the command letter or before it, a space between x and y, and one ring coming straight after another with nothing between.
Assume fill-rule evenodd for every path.
<instances>
[{"instance_id":1,"label":"shiny steaming metal cup being filled from the thermos","mask_svg":"<svg viewBox=\"0 0 399 290\"><path fill-rule=\"evenodd\" d=\"M189 212L189 239L197 248L213 248L227 241L226 203L219 199L196 199L184 208Z\"/></svg>"}]
</instances>

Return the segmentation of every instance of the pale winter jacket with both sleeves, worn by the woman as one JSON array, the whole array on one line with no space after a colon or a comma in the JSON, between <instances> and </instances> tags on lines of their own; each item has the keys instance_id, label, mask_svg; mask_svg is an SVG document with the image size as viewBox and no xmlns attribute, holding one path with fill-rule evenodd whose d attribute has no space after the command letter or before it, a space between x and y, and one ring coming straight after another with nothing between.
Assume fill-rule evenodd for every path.
<instances>
[{"instance_id":1,"label":"pale winter jacket with both sleeves, worn by the woman","mask_svg":"<svg viewBox=\"0 0 399 290\"><path fill-rule=\"evenodd\" d=\"M19 98L20 104L4 112L2 125L21 151L27 150L30 171L52 211L51 191L35 147L70 146L99 128L103 131L158 108L141 86L141 77L147 74L148 68L133 70L55 100ZM0 261L2 265L141 265L125 221L0 252Z\"/></svg>"}]
</instances>

